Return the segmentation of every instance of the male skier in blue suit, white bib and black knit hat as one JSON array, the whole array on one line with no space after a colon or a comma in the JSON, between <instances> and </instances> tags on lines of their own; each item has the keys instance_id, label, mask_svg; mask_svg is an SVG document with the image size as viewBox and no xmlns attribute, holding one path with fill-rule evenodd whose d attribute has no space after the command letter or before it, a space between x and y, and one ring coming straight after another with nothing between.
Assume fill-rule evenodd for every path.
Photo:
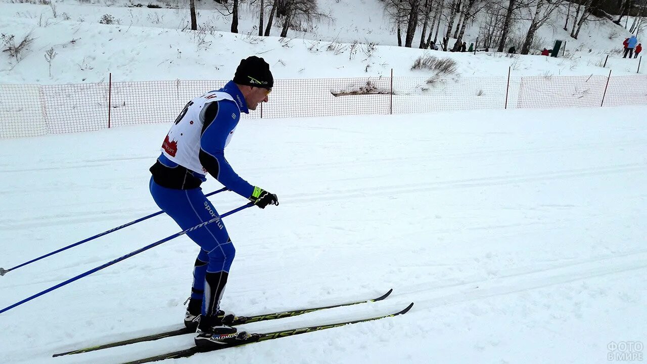
<instances>
[{"instance_id":1,"label":"male skier in blue suit, white bib and black knit hat","mask_svg":"<svg viewBox=\"0 0 647 364\"><path fill-rule=\"evenodd\" d=\"M155 203L182 230L218 216L200 188L207 173L261 209L279 204L276 194L250 185L225 159L225 147L241 112L249 113L261 102L268 102L273 85L269 64L263 58L250 56L241 60L232 81L222 89L193 98L171 125L162 143L162 154L150 168L149 188ZM236 338L236 328L228 326L226 320L223 323L223 312L219 311L236 249L221 220L187 235L201 249L193 267L184 324L196 328L197 346L221 345Z\"/></svg>"}]
</instances>

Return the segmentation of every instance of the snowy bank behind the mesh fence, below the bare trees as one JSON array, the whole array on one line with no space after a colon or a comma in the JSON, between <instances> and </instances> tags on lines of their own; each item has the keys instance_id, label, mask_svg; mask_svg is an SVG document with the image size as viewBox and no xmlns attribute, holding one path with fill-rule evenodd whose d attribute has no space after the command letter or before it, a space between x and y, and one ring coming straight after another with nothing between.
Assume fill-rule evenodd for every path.
<instances>
[{"instance_id":1,"label":"snowy bank behind the mesh fence, below the bare trees","mask_svg":"<svg viewBox=\"0 0 647 364\"><path fill-rule=\"evenodd\" d=\"M386 76L391 69L395 76L420 76L421 71L411 71L411 65L421 54L452 58L457 62L457 74L463 77L504 76L509 67L512 76L607 75L609 69L616 75L636 74L639 63L622 59L622 41L630 33L608 19L585 23L579 39L571 38L570 27L563 30L566 8L554 12L537 34L537 40L543 40L549 49L554 40L564 40L562 58L538 56L538 51L506 58L494 52L475 56L417 49L422 24L413 49L397 47L393 25L378 0L361 0L359 4L322 0L322 12L330 14L331 20L314 23L308 32L291 30L287 39L278 37L279 23L275 23L272 36L255 36L258 10L254 7L241 6L239 34L232 34L230 16L222 16L220 12L225 10L216 9L219 5L212 0L197 2L201 27L197 32L182 30L188 21L184 1L153 3L164 8L132 7L137 2L113 0L55 1L54 6L0 0L0 33L14 34L17 41L27 34L34 38L20 62L6 54L0 57L0 83L105 82L108 73L113 73L116 81L227 79L241 58L250 54L265 57L276 78ZM99 24L106 14L120 25ZM476 41L485 21L487 14L479 14L470 23L465 34L468 44ZM445 21L439 39L444 28ZM512 36L525 36L526 30L527 21L518 21ZM479 44L482 47L482 42ZM44 57L50 48L57 53L51 70ZM608 55L606 67L602 67ZM642 69L644 74L645 67Z\"/></svg>"}]
</instances>

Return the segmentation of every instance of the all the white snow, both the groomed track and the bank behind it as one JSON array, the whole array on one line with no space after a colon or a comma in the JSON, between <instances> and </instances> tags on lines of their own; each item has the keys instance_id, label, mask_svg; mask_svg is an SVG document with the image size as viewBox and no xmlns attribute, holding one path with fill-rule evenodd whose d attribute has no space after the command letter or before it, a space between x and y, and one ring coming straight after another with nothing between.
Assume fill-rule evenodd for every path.
<instances>
[{"instance_id":1,"label":"all the white snow, both the groomed track and the bank behind it","mask_svg":"<svg viewBox=\"0 0 647 364\"><path fill-rule=\"evenodd\" d=\"M457 72L443 76L452 82L439 88L448 99L439 108L470 107L469 100L452 95L480 97L465 87L477 82L472 76L499 76L485 98L501 104L509 67L509 106L523 108L519 76L549 82L557 79L551 76L578 75L601 85L609 69L616 76L635 75L639 62L618 54L629 35L624 27L593 21L572 40L562 30L561 10L538 37L546 46L566 40L564 57L510 58L395 47L392 24L377 0L322 0L334 21L316 23L308 32L291 30L287 39L277 37L276 25L271 37L254 36L256 10L245 6L240 34L228 32L229 20L211 0L198 2L199 32L182 30L186 1L151 1L159 9L129 7L137 2L122 0L61 0L54 6L20 1L0 0L0 34L17 40L30 34L34 41L20 62L0 53L0 84L106 82L109 73L113 82L228 80L251 54L265 57L278 80L390 76L391 69L396 77L427 78L431 71L411 65L433 54L457 62ZM104 14L120 24L99 24ZM481 21L478 16L468 27L468 44ZM521 21L516 36L525 34L523 27ZM51 68L43 57L50 48L56 52ZM564 89L553 95L538 91L538 102L558 104L575 95L573 84L559 80ZM644 84L636 84L631 100L645 94ZM289 92L276 88L269 106ZM21 86L3 90L1 121L37 122L12 103L31 100L19 93ZM588 88L580 91L582 100L595 97ZM430 102L404 95L409 104L395 105L398 113L422 111L419 106ZM65 96L48 94L58 101ZM621 358L614 355L626 351L609 348L624 342L641 343L629 354L642 358L644 108L243 120L228 161L250 183L278 194L281 205L226 218L237 252L223 308L253 315L394 289L382 302L242 327L267 332L415 306L400 317L174 362L590 364L608 363L609 355ZM148 168L167 129L121 126L3 139L0 266L16 266L155 212ZM210 179L203 188L220 186ZM211 200L219 212L247 202L233 192ZM162 215L11 271L0 278L0 309L177 231ZM190 347L192 336L181 336L51 358L54 352L181 326L197 250L182 236L1 313L0 363L113 364Z\"/></svg>"}]
</instances>

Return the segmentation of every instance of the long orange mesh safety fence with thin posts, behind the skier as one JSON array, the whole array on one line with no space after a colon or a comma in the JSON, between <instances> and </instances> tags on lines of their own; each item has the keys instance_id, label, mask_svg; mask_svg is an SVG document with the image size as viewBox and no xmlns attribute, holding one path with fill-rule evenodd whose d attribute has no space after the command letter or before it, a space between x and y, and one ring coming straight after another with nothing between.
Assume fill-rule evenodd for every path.
<instances>
[{"instance_id":1,"label":"long orange mesh safety fence with thin posts, behind the skier","mask_svg":"<svg viewBox=\"0 0 647 364\"><path fill-rule=\"evenodd\" d=\"M0 84L0 138L170 122L226 80ZM607 87L608 83L608 87ZM607 88L606 88L607 87ZM606 88L606 93L605 93ZM276 80L245 118L647 104L647 76L363 77Z\"/></svg>"}]
</instances>

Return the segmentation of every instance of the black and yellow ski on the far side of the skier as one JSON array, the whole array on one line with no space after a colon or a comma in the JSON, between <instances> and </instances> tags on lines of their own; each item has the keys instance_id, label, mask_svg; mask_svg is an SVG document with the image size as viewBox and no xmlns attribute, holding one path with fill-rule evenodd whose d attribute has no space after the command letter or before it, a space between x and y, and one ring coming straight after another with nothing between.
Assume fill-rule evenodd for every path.
<instances>
[{"instance_id":1,"label":"black and yellow ski on the far side of the skier","mask_svg":"<svg viewBox=\"0 0 647 364\"><path fill-rule=\"evenodd\" d=\"M240 324L256 323L258 321L269 321L269 320L283 319L285 317L293 317L293 316L303 315L304 313L315 312L315 311L320 311L320 310L327 310L328 308L353 306L354 304L360 304L360 303L365 303L365 302L382 301L383 299L386 299L386 297L389 297L389 295L391 294L392 291L393 291L393 288L391 288L391 290L389 290L388 292L384 293L384 295L381 295L380 297L377 297L376 299L369 299L369 300L363 300L363 301L353 301L353 302L347 302L347 303L342 303L342 304L333 304L331 306L306 308L306 309L303 309L303 310L291 310L291 311L285 311L285 312L266 313L265 315L237 316L237 317L234 317L234 321L231 323L231 325L236 326L236 325L240 325ZM107 348L122 347L124 345L142 343L144 341L154 341L154 340L164 339L165 337L179 336L179 335L193 334L193 333L195 333L195 330L190 330L188 328L180 328L178 330L160 332L158 334L134 337L133 339L127 339L127 340L123 340L123 341L115 341L114 343L107 343L107 344L97 345L96 347L87 347L87 348L81 348L81 349L78 349L78 350L72 350L72 351L69 351L69 352L61 352L61 353L58 353L58 354L54 354L52 356L54 358L56 358L57 356L64 356L64 355L71 355L71 354L81 354L81 353L84 353L84 352L92 352L92 351L102 350L102 349L107 349Z\"/></svg>"}]
</instances>

